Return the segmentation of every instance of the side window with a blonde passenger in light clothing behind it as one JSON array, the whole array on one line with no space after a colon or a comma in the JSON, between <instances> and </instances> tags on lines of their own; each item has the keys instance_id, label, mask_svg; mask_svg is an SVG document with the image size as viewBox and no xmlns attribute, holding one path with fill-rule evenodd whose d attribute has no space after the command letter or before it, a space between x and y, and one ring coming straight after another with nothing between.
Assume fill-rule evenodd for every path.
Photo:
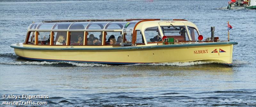
<instances>
[{"instance_id":1,"label":"side window with a blonde passenger in light clothing behind it","mask_svg":"<svg viewBox=\"0 0 256 107\"><path fill-rule=\"evenodd\" d=\"M67 32L66 31L58 31L54 32L56 36L53 36L54 45L66 45L67 41Z\"/></svg>"}]
</instances>

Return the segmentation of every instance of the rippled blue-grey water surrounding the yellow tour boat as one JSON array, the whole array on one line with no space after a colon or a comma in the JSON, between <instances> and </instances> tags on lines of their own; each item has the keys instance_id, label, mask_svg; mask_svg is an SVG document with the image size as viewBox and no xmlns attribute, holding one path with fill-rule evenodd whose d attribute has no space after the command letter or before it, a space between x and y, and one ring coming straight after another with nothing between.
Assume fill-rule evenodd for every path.
<instances>
[{"instance_id":1,"label":"rippled blue-grey water surrounding the yellow tour boat","mask_svg":"<svg viewBox=\"0 0 256 107\"><path fill-rule=\"evenodd\" d=\"M46 106L256 106L256 10L219 1L0 1L0 95L48 95ZM233 65L212 62L106 65L38 62L14 54L32 21L187 19L204 37L237 41ZM28 101L4 99L3 101Z\"/></svg>"}]
</instances>

